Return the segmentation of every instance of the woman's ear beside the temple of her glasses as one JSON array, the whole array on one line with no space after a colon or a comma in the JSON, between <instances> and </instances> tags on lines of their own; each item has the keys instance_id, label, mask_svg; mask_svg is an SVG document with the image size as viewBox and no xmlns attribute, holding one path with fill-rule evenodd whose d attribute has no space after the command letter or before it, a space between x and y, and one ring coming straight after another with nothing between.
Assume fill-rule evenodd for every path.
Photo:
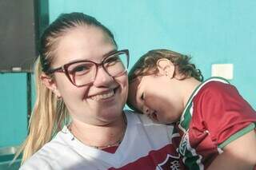
<instances>
[{"instance_id":1,"label":"woman's ear beside the temple of her glasses","mask_svg":"<svg viewBox=\"0 0 256 170\"><path fill-rule=\"evenodd\" d=\"M61 93L59 93L56 82L52 77L47 76L45 73L42 73L40 76L42 84L46 86L46 88L50 89L56 97L62 97Z\"/></svg>"}]
</instances>

